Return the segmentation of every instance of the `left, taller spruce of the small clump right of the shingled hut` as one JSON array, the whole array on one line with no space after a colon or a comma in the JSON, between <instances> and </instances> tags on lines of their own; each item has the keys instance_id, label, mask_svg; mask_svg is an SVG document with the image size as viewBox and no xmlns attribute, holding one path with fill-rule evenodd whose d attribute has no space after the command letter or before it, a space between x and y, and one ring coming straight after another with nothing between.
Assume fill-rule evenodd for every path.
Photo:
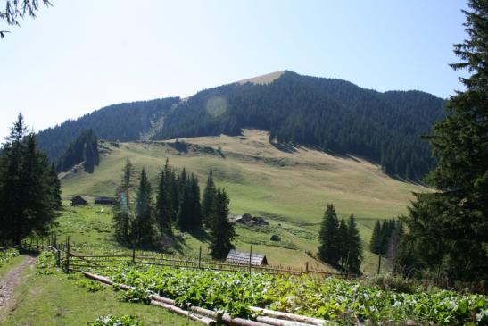
<instances>
[{"instance_id":1,"label":"left, taller spruce of the small clump right of the shingled hut","mask_svg":"<svg viewBox=\"0 0 488 326\"><path fill-rule=\"evenodd\" d=\"M327 204L318 236L318 242L320 243L318 256L322 261L333 266L337 266L340 259L339 248L337 247L338 230L339 222L337 221L334 205Z\"/></svg>"}]
</instances>

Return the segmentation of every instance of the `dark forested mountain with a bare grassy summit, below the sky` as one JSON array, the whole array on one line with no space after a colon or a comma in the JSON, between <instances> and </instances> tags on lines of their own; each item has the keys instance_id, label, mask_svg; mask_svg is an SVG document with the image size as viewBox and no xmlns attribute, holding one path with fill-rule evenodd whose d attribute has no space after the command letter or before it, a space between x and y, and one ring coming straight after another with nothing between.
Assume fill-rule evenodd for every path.
<instances>
[{"instance_id":1,"label":"dark forested mountain with a bare grassy summit, below the sky","mask_svg":"<svg viewBox=\"0 0 488 326\"><path fill-rule=\"evenodd\" d=\"M144 134L153 139L236 136L252 128L269 130L269 140L277 146L303 144L334 155L356 155L381 164L390 175L418 180L434 165L421 135L429 134L434 121L443 117L444 104L419 91L381 93L341 79L277 71L182 100L112 105L41 132L39 145L52 146L47 135L69 138L75 125L93 129L99 138L120 141ZM58 140L57 147L65 140ZM53 157L56 150L49 154Z\"/></svg>"}]
</instances>

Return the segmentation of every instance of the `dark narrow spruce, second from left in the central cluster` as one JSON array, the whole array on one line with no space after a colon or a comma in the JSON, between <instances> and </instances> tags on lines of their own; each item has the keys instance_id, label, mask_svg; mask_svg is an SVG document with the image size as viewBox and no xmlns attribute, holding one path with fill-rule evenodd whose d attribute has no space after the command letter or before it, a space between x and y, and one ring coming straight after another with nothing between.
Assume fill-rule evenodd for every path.
<instances>
[{"instance_id":1,"label":"dark narrow spruce, second from left in the central cluster","mask_svg":"<svg viewBox=\"0 0 488 326\"><path fill-rule=\"evenodd\" d=\"M136 219L132 226L132 233L138 246L147 247L153 244L152 189L144 168L137 189Z\"/></svg>"}]
</instances>

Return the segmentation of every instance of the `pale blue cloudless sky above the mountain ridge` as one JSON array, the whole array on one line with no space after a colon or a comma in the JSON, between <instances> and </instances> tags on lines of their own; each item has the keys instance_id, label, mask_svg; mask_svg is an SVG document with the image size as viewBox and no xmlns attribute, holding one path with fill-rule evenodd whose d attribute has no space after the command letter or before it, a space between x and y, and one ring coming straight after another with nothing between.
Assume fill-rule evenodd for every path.
<instances>
[{"instance_id":1,"label":"pale blue cloudless sky above the mountain ridge","mask_svg":"<svg viewBox=\"0 0 488 326\"><path fill-rule=\"evenodd\" d=\"M40 2L40 1L39 1ZM462 89L459 0L51 0L0 39L0 141L108 104L289 70L378 91ZM0 0L3 10L5 0Z\"/></svg>"}]
</instances>

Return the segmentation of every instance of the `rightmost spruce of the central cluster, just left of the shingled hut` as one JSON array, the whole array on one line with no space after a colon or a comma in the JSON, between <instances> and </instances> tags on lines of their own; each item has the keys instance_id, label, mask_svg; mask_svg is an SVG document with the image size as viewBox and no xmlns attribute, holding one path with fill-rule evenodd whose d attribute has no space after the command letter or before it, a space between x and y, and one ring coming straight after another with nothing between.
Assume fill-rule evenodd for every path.
<instances>
[{"instance_id":1,"label":"rightmost spruce of the central cluster, just left of the shingled hut","mask_svg":"<svg viewBox=\"0 0 488 326\"><path fill-rule=\"evenodd\" d=\"M232 240L236 237L234 224L228 221L229 199L225 189L217 189L211 218L211 256L224 259L230 249L234 248Z\"/></svg>"}]
</instances>

